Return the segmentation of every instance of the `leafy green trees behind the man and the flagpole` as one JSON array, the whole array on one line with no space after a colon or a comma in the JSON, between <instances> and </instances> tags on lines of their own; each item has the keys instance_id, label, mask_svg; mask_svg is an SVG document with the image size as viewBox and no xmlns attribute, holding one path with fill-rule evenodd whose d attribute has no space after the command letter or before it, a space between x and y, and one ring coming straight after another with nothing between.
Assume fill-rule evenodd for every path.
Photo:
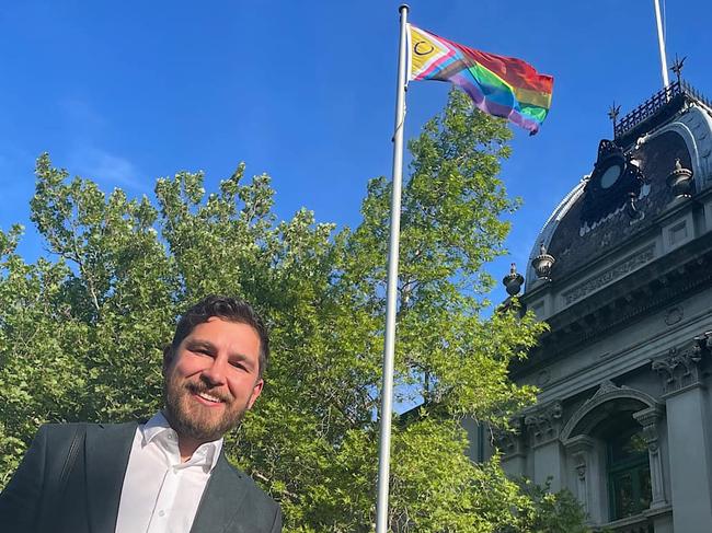
<instances>
[{"instance_id":1,"label":"leafy green trees behind the man and the flagpole","mask_svg":"<svg viewBox=\"0 0 712 533\"><path fill-rule=\"evenodd\" d=\"M496 455L470 461L459 424L503 427L535 398L507 367L542 326L485 311L482 267L503 253L502 216L516 208L497 178L509 135L452 93L410 143L395 383L399 402L425 407L393 428L397 532L540 531L536 498ZM25 263L22 229L0 232L0 480L44 421L150 417L176 316L231 293L268 317L273 360L229 455L280 501L286 531L371 531L389 182L372 179L363 222L340 231L308 210L277 221L269 177L245 181L244 165L211 193L182 172L154 194L106 194L37 161L32 221L46 257Z\"/></svg>"}]
</instances>

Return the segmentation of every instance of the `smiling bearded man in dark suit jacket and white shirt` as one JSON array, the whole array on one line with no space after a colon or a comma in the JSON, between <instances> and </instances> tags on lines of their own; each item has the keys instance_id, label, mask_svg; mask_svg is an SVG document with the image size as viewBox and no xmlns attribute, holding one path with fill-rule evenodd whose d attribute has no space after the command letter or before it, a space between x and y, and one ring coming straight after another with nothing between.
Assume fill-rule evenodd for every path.
<instances>
[{"instance_id":1,"label":"smiling bearded man in dark suit jacket and white shirt","mask_svg":"<svg viewBox=\"0 0 712 533\"><path fill-rule=\"evenodd\" d=\"M282 531L279 507L222 453L262 392L268 343L242 301L191 308L163 351L163 410L143 425L43 426L0 495L0 531Z\"/></svg>"}]
</instances>

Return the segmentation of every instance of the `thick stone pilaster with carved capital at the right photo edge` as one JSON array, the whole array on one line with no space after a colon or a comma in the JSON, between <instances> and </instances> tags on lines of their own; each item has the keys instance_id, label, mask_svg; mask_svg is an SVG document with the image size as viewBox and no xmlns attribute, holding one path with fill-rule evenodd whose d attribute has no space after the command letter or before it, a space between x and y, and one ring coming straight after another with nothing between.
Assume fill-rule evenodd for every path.
<instances>
[{"instance_id":1,"label":"thick stone pilaster with carved capital at the right photo edge","mask_svg":"<svg viewBox=\"0 0 712 533\"><path fill-rule=\"evenodd\" d=\"M711 338L709 334L697 337L692 347L674 348L653 362L653 370L663 378L675 531L700 531L701 524L712 524L712 442L702 381Z\"/></svg>"}]
</instances>

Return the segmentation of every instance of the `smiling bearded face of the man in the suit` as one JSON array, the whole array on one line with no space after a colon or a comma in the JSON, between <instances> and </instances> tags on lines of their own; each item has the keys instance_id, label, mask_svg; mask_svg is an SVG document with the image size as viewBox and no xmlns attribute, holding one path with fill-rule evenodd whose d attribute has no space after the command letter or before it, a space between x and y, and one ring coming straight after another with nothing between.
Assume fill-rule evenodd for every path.
<instances>
[{"instance_id":1,"label":"smiling bearded face of the man in the suit","mask_svg":"<svg viewBox=\"0 0 712 533\"><path fill-rule=\"evenodd\" d=\"M179 437L217 440L262 392L260 336L218 317L195 326L163 362L165 414Z\"/></svg>"}]
</instances>

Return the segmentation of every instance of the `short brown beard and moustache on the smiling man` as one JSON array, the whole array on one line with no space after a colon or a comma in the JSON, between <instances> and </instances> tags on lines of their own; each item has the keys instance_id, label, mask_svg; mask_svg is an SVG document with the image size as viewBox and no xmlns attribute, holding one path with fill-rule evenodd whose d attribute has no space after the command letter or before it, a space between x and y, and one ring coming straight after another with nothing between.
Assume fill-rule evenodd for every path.
<instances>
[{"instance_id":1,"label":"short brown beard and moustache on the smiling man","mask_svg":"<svg viewBox=\"0 0 712 533\"><path fill-rule=\"evenodd\" d=\"M192 396L208 393L223 402L223 408L205 407ZM239 405L226 394L218 393L202 380L184 382L172 373L163 381L165 415L179 437L211 442L240 426L248 405ZM221 413L217 413L221 410Z\"/></svg>"}]
</instances>

